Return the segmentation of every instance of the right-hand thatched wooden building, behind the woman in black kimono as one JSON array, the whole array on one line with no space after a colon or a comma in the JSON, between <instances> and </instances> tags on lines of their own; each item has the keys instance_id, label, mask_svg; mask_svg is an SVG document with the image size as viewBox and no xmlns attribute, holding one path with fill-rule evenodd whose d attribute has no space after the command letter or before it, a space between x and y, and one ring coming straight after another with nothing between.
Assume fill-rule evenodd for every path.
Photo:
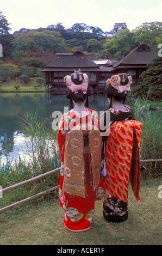
<instances>
[{"instance_id":1,"label":"right-hand thatched wooden building, behind the woman in black kimono","mask_svg":"<svg viewBox=\"0 0 162 256\"><path fill-rule=\"evenodd\" d=\"M158 54L152 51L148 45L141 44L113 65L114 73L129 74L135 82L139 79L141 73L147 69L147 64L157 56Z\"/></svg>"}]
</instances>

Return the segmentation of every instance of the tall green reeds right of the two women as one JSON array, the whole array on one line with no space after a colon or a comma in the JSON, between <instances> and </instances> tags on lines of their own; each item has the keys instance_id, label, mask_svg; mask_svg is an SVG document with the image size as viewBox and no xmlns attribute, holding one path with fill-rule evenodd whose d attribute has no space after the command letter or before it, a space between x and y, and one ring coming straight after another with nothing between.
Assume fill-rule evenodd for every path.
<instances>
[{"instance_id":1,"label":"tall green reeds right of the two women","mask_svg":"<svg viewBox=\"0 0 162 256\"><path fill-rule=\"evenodd\" d=\"M134 99L133 97L130 97L130 99L135 119L143 124L141 141L145 136L140 159L161 159L161 111L150 111L149 101L145 95L142 99ZM146 107L142 111L141 107L144 105ZM161 162L145 162L144 166L146 170L142 173L143 177L152 179L161 176Z\"/></svg>"}]
</instances>

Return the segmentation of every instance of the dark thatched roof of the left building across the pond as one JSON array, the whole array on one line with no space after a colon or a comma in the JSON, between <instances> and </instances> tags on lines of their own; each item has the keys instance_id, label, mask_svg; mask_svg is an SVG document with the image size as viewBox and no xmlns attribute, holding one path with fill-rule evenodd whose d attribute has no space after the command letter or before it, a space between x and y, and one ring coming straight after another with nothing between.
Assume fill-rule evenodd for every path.
<instances>
[{"instance_id":1,"label":"dark thatched roof of the left building across the pond","mask_svg":"<svg viewBox=\"0 0 162 256\"><path fill-rule=\"evenodd\" d=\"M46 68L99 68L87 55L83 52L76 51L74 53L57 53L54 59L49 63Z\"/></svg>"}]
</instances>

